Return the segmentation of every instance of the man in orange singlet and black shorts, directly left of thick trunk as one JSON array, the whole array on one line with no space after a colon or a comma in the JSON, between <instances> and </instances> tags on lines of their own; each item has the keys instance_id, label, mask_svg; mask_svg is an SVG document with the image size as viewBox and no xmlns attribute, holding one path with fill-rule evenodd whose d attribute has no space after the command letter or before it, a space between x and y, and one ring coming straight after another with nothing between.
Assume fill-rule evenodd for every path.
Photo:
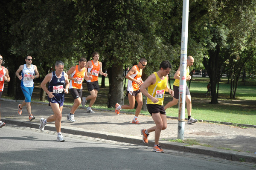
<instances>
[{"instance_id":1,"label":"man in orange singlet and black shorts, directly left of thick trunk","mask_svg":"<svg viewBox=\"0 0 256 170\"><path fill-rule=\"evenodd\" d=\"M99 61L98 52L93 52L93 60L88 61L85 68L87 68L88 72L90 73L90 75L92 75L93 79L86 81L90 95L82 98L82 106L85 107L86 102L90 100L90 104L89 104L89 107L87 107L86 112L94 113L91 107L96 101L97 94L99 91L99 82L98 82L99 74L107 77L107 74L102 72L102 62Z\"/></svg>"}]
</instances>

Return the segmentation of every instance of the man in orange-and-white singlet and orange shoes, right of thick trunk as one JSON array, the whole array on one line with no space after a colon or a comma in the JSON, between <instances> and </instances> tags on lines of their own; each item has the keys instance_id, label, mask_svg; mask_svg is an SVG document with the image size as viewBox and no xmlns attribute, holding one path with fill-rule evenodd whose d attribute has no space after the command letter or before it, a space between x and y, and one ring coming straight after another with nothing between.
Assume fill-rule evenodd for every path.
<instances>
[{"instance_id":1,"label":"man in orange-and-white singlet and orange shoes, right of thick trunk","mask_svg":"<svg viewBox=\"0 0 256 170\"><path fill-rule=\"evenodd\" d=\"M119 115L121 109L134 109L135 100L137 101L138 106L135 111L134 119L132 120L133 124L140 124L140 121L138 121L138 116L143 105L143 96L142 93L140 92L140 86L143 84L141 75L142 70L145 68L146 65L147 60L145 58L141 58L139 63L135 66L132 66L130 71L125 76L125 78L128 79L127 93L129 105L121 106L118 103L116 104L116 115Z\"/></svg>"}]
</instances>

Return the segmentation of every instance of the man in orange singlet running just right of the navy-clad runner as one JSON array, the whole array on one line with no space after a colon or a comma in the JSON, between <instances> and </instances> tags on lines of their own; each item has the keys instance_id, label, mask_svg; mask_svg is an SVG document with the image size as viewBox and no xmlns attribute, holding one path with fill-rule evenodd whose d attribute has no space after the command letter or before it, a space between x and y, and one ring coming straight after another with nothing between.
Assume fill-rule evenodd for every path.
<instances>
[{"instance_id":1,"label":"man in orange singlet running just right of the navy-clad runner","mask_svg":"<svg viewBox=\"0 0 256 170\"><path fill-rule=\"evenodd\" d=\"M74 114L76 109L81 104L81 98L83 93L83 81L92 79L92 76L87 75L87 69L85 68L86 59L80 58L79 65L72 66L68 71L67 75L70 79L70 92L74 98L74 104L71 107L70 113L67 115L68 121L76 121L74 118Z\"/></svg>"}]
</instances>

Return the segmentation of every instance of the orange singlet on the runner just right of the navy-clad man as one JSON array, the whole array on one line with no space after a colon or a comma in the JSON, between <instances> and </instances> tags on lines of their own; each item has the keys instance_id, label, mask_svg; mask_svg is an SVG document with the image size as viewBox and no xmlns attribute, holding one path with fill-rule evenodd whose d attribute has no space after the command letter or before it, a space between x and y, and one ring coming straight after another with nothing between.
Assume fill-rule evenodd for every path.
<instances>
[{"instance_id":1,"label":"orange singlet on the runner just right of the navy-clad man","mask_svg":"<svg viewBox=\"0 0 256 170\"><path fill-rule=\"evenodd\" d=\"M81 72L79 72L78 65L76 65L76 69L71 74L71 77L78 78L78 81L75 82L73 80L70 80L70 89L82 89L83 88L82 83L83 83L83 80L84 80L84 75L85 75L85 68L83 68L81 70Z\"/></svg>"}]
</instances>

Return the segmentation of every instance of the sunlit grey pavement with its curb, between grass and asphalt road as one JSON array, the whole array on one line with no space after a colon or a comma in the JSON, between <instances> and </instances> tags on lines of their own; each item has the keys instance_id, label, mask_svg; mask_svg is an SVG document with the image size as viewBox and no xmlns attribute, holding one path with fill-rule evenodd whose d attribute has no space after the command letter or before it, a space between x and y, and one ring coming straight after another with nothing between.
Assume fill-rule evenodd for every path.
<instances>
[{"instance_id":1,"label":"sunlit grey pavement with its curb, between grass and asphalt road","mask_svg":"<svg viewBox=\"0 0 256 170\"><path fill-rule=\"evenodd\" d=\"M29 121L26 107L23 107L22 115L17 114L17 106L21 101L3 99L0 101L1 120L9 124L38 128L41 117L48 118L52 115L52 109L46 103L32 102L32 114L35 120ZM151 116L139 115L141 124L132 124L133 114L120 111L93 109L94 114L87 113L79 107L75 112L75 122L67 121L70 106L64 105L62 111L61 132L76 135L85 135L95 138L104 138L113 141L127 142L145 145L142 142L141 129L154 126ZM186 124L185 140L192 139L198 144L184 144L171 142L177 139L177 119L168 118L168 127L160 135L160 145L164 149L180 150L190 153L205 154L232 161L247 161L256 163L256 126L247 128L235 127L226 124L197 122ZM4 128L4 127L3 127ZM54 123L48 123L45 130L55 130ZM1 134L1 129L0 129ZM148 146L154 146L154 133L148 136Z\"/></svg>"}]
</instances>

